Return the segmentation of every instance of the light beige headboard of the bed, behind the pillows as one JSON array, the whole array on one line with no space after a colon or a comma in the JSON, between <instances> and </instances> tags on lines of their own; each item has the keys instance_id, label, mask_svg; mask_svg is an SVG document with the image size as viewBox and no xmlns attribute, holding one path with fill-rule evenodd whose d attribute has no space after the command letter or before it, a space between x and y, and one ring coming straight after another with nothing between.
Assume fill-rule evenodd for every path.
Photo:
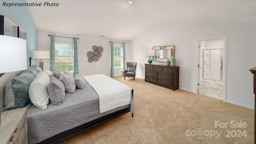
<instances>
[{"instance_id":1,"label":"light beige headboard of the bed, behind the pillows","mask_svg":"<svg viewBox=\"0 0 256 144\"><path fill-rule=\"evenodd\" d=\"M17 72L6 72L0 77L0 86L1 86L1 111L4 109L4 94L5 94L5 85L11 79L15 78L20 74L20 71Z\"/></svg>"}]
</instances>

